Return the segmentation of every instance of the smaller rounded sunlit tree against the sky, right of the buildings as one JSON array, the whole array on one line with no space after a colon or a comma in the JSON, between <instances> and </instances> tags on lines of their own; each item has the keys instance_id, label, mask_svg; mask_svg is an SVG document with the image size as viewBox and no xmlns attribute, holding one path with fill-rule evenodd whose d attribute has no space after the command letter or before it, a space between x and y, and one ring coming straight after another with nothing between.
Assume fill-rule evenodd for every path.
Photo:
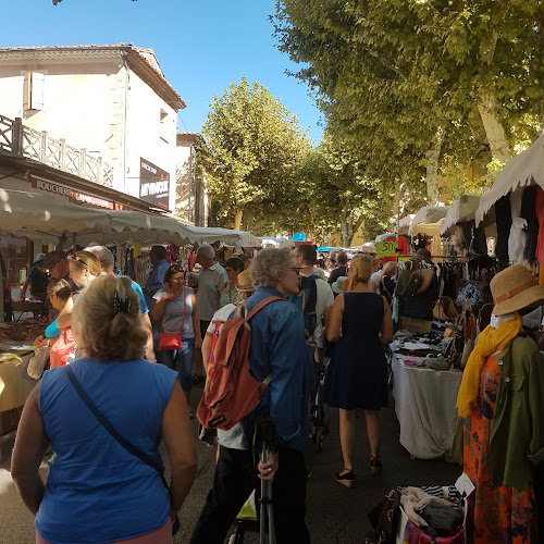
<instances>
[{"instance_id":1,"label":"smaller rounded sunlit tree against the sky, right of the buildings","mask_svg":"<svg viewBox=\"0 0 544 544\"><path fill-rule=\"evenodd\" d=\"M295 115L244 77L214 97L202 127L207 175L219 224L261 231L288 223L297 172L311 148Z\"/></svg>"}]
</instances>

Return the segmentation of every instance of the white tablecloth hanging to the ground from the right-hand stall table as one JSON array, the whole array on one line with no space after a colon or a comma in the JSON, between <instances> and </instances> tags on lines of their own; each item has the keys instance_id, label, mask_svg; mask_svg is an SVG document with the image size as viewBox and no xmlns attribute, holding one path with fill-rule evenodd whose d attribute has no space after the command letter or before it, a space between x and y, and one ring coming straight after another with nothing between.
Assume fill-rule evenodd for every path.
<instances>
[{"instance_id":1,"label":"white tablecloth hanging to the ground from the right-hand stall table","mask_svg":"<svg viewBox=\"0 0 544 544\"><path fill-rule=\"evenodd\" d=\"M419 459L441 457L452 448L457 392L462 372L405 367L393 356L393 398L400 444Z\"/></svg>"}]
</instances>

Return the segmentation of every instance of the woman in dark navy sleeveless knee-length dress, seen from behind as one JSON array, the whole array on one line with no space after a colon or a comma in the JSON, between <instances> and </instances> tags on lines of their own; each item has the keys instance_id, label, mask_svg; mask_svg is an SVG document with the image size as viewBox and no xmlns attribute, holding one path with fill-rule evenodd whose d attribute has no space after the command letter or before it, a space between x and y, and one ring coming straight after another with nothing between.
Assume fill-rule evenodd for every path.
<instances>
[{"instance_id":1,"label":"woman in dark navy sleeveless knee-length dress, seen from behind","mask_svg":"<svg viewBox=\"0 0 544 544\"><path fill-rule=\"evenodd\" d=\"M353 452L356 409L364 410L370 442L370 468L378 473L380 408L387 406L387 364L382 343L393 339L391 307L385 297L369 286L372 261L357 257L349 268L349 290L338 295L326 326L329 342L339 338L329 366L323 400L339 408L339 435L344 469L336 480L350 487L355 483ZM342 327L342 335L341 335Z\"/></svg>"}]
</instances>

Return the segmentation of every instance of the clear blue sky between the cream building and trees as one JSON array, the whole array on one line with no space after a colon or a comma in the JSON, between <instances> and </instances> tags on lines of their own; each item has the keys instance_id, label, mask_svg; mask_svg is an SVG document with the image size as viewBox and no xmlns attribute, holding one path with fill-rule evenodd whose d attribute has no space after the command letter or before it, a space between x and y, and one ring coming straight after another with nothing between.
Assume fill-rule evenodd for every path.
<instances>
[{"instance_id":1,"label":"clear blue sky between the cream building and trees","mask_svg":"<svg viewBox=\"0 0 544 544\"><path fill-rule=\"evenodd\" d=\"M149 47L187 103L181 131L200 132L213 95L246 76L298 116L314 144L321 115L306 84L277 51L268 15L275 0L3 0L0 45L134 42ZM183 120L183 123L182 123Z\"/></svg>"}]
</instances>

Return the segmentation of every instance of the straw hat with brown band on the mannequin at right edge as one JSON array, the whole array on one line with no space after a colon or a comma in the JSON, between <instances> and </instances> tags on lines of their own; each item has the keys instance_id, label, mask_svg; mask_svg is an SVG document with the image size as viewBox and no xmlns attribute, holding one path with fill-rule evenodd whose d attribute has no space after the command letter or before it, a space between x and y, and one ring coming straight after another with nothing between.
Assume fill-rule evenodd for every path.
<instances>
[{"instance_id":1,"label":"straw hat with brown band on the mannequin at right edge","mask_svg":"<svg viewBox=\"0 0 544 544\"><path fill-rule=\"evenodd\" d=\"M495 316L504 316L544 302L544 285L539 285L529 269L515 264L499 272L490 283Z\"/></svg>"}]
</instances>

